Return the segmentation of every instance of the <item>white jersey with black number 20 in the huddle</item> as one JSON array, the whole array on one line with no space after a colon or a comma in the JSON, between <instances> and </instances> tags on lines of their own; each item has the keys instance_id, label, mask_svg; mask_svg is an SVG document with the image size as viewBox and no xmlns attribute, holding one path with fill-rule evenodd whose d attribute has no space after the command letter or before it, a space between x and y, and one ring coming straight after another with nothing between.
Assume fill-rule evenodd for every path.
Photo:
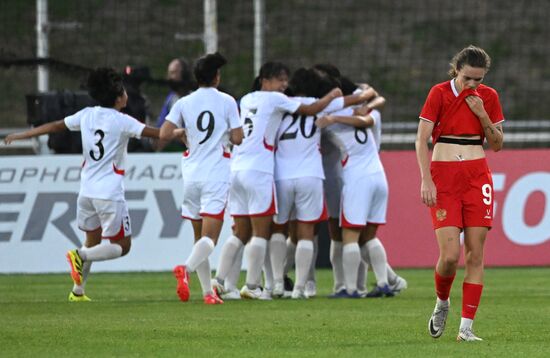
<instances>
[{"instance_id":1,"label":"white jersey with black number 20 in the huddle","mask_svg":"<svg viewBox=\"0 0 550 358\"><path fill-rule=\"evenodd\" d=\"M292 97L303 104L312 104L317 98ZM276 136L275 180L315 177L324 179L320 151L321 130L315 125L317 117L339 111L344 98L338 97L317 116L284 113Z\"/></svg>"}]
</instances>

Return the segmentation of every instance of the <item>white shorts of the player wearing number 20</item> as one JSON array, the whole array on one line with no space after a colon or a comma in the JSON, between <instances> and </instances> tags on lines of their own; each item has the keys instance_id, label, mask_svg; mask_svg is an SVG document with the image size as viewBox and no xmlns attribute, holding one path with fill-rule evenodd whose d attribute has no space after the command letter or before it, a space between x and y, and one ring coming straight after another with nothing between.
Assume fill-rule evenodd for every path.
<instances>
[{"instance_id":1,"label":"white shorts of the player wearing number 20","mask_svg":"<svg viewBox=\"0 0 550 358\"><path fill-rule=\"evenodd\" d=\"M275 187L278 213L273 220L276 224L286 224L294 219L308 223L318 223L327 219L323 179L283 179L277 180Z\"/></svg>"}]
</instances>

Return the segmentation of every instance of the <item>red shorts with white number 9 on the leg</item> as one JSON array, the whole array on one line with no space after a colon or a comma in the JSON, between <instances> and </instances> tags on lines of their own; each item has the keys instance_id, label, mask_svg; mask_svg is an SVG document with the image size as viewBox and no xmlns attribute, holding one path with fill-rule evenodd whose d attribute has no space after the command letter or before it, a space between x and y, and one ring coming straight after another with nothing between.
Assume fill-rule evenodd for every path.
<instances>
[{"instance_id":1,"label":"red shorts with white number 9 on the leg","mask_svg":"<svg viewBox=\"0 0 550 358\"><path fill-rule=\"evenodd\" d=\"M430 169L437 189L437 204L430 208L434 229L493 225L493 179L485 158L436 161Z\"/></svg>"}]
</instances>

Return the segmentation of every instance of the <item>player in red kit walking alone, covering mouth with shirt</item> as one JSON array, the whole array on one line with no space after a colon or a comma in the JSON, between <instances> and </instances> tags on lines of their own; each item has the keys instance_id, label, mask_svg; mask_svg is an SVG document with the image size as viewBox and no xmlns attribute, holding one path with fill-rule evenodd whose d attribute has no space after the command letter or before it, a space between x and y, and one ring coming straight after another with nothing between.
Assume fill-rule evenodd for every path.
<instances>
[{"instance_id":1,"label":"player in red kit walking alone, covering mouth with shirt","mask_svg":"<svg viewBox=\"0 0 550 358\"><path fill-rule=\"evenodd\" d=\"M420 113L415 145L421 196L430 208L439 245L437 302L428 323L434 338L445 328L463 231L466 267L457 340L481 340L474 335L472 323L483 289L483 246L493 219L493 181L483 142L487 139L495 152L502 149L504 121L497 92L481 84L490 64L489 55L479 47L461 50L451 62L452 79L432 87Z\"/></svg>"}]
</instances>

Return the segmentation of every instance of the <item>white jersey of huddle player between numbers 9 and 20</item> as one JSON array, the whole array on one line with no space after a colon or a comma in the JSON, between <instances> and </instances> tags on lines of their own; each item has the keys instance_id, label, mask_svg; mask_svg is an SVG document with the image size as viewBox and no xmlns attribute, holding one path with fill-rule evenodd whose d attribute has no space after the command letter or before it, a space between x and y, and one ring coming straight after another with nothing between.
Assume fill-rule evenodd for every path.
<instances>
[{"instance_id":1,"label":"white jersey of huddle player between numbers 9 and 20","mask_svg":"<svg viewBox=\"0 0 550 358\"><path fill-rule=\"evenodd\" d=\"M285 113L294 113L300 102L280 92L256 91L241 99L244 139L234 150L232 171L255 170L273 174L275 136Z\"/></svg>"}]
</instances>

